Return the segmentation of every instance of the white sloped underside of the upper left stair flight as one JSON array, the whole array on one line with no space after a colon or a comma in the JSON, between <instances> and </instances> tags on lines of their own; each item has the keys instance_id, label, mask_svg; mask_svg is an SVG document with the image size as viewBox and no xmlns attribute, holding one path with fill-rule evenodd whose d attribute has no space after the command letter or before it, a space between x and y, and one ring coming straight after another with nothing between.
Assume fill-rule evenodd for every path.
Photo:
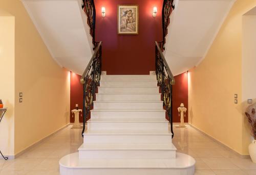
<instances>
[{"instance_id":1,"label":"white sloped underside of the upper left stair flight","mask_svg":"<svg viewBox=\"0 0 256 175\"><path fill-rule=\"evenodd\" d=\"M92 37L81 0L22 0L52 57L82 74L92 57Z\"/></svg>"}]
</instances>

